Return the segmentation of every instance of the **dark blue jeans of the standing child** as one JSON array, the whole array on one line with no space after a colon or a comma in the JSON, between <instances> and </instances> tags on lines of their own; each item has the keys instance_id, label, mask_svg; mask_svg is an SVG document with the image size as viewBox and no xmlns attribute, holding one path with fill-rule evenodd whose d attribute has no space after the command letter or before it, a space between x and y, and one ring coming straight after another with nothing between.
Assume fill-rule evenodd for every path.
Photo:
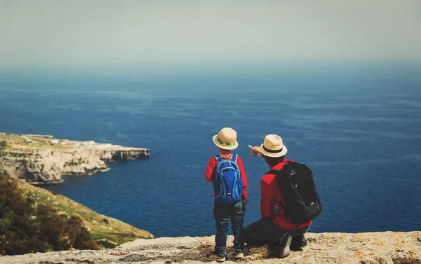
<instances>
[{"instance_id":1,"label":"dark blue jeans of the standing child","mask_svg":"<svg viewBox=\"0 0 421 264\"><path fill-rule=\"evenodd\" d=\"M243 218L246 207L243 200L234 205L222 205L215 202L213 217L216 221L215 255L225 257L227 255L227 232L228 218L231 217L232 232L234 233L234 250L242 253L244 250Z\"/></svg>"}]
</instances>

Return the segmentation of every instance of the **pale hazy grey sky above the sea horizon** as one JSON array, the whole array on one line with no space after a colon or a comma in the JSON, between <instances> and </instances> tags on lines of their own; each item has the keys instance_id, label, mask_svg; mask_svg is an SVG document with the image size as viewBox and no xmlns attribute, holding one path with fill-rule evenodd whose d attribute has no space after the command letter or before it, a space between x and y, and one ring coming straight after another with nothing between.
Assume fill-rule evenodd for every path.
<instances>
[{"instance_id":1,"label":"pale hazy grey sky above the sea horizon","mask_svg":"<svg viewBox=\"0 0 421 264\"><path fill-rule=\"evenodd\" d=\"M421 0L0 0L0 66L421 60Z\"/></svg>"}]
</instances>

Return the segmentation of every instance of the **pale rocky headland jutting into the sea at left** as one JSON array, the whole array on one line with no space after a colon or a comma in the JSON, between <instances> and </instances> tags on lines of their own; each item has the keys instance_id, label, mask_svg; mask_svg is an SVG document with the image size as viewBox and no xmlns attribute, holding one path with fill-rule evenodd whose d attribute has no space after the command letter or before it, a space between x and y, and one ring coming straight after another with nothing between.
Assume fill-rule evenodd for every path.
<instances>
[{"instance_id":1,"label":"pale rocky headland jutting into the sea at left","mask_svg":"<svg viewBox=\"0 0 421 264\"><path fill-rule=\"evenodd\" d=\"M29 183L60 183L64 175L106 172L106 162L150 156L147 148L128 148L52 136L0 133L0 171Z\"/></svg>"}]
</instances>

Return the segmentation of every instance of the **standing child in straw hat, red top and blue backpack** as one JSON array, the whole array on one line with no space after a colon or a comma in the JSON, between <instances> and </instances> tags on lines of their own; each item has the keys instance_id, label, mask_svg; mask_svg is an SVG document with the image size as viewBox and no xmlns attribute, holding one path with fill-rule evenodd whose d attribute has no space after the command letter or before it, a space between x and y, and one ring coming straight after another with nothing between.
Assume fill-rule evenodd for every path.
<instances>
[{"instance_id":1,"label":"standing child in straw hat, red top and blue backpack","mask_svg":"<svg viewBox=\"0 0 421 264\"><path fill-rule=\"evenodd\" d=\"M208 169L206 169L206 181L213 182L213 197L215 199L213 216L216 221L215 251L206 256L206 259L210 261L225 261L227 255L228 218L230 217L234 233L234 253L232 253L232 257L243 258L243 218L247 204L247 177L241 158L238 155L231 154L231 151L239 145L236 137L235 130L229 127L222 128L213 137L213 143L218 146L220 154L210 158ZM229 162L222 162L222 160L228 160ZM228 167L224 168L225 176L222 173L218 174L220 168L224 166L222 163L229 164L227 165ZM229 171L230 169L231 172ZM238 173L240 175L236 176ZM222 177L227 177L227 179L231 177L231 179L235 178L238 181L230 181L229 179L223 181ZM222 184L225 184L225 186L222 186Z\"/></svg>"}]
</instances>

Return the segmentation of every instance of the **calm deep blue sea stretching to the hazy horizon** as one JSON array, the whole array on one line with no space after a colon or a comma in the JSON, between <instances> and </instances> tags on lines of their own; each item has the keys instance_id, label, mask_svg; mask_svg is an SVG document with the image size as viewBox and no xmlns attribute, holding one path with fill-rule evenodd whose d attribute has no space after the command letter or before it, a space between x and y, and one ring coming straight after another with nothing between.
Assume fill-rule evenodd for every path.
<instances>
[{"instance_id":1,"label":"calm deep blue sea stretching to the hazy horizon","mask_svg":"<svg viewBox=\"0 0 421 264\"><path fill-rule=\"evenodd\" d=\"M289 74L148 78L0 78L0 131L151 148L95 176L46 186L163 236L215 232L203 174L222 127L239 134L249 182L245 223L260 217L268 170L248 144L279 134L312 168L323 204L312 232L420 230L421 71L376 67Z\"/></svg>"}]
</instances>

